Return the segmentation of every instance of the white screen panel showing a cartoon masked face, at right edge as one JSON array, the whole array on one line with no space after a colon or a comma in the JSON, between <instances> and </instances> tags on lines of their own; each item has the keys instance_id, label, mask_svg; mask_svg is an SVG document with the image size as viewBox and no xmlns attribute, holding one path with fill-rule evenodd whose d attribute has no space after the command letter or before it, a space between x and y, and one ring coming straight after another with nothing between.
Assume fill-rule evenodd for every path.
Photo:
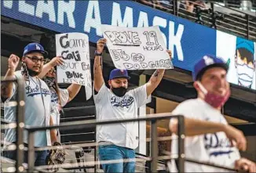
<instances>
[{"instance_id":1,"label":"white screen panel showing a cartoon masked face, at right edge","mask_svg":"<svg viewBox=\"0 0 256 173\"><path fill-rule=\"evenodd\" d=\"M229 66L227 79L232 84L256 89L255 49L254 41L217 31L216 55Z\"/></svg>"}]
</instances>

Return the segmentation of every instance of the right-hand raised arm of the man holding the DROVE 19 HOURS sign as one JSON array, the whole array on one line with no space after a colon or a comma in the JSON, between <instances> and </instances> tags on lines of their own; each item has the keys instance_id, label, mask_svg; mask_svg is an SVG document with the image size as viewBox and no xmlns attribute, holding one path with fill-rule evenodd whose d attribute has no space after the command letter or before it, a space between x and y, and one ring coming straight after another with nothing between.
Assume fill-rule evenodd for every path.
<instances>
[{"instance_id":1,"label":"right-hand raised arm of the man holding the DROVE 19 HOURS sign","mask_svg":"<svg viewBox=\"0 0 256 173\"><path fill-rule=\"evenodd\" d=\"M171 59L170 50L167 50L167 52L169 53L170 59ZM154 74L152 74L152 77L150 77L148 83L146 84L148 96L150 96L152 92L155 90L155 88L159 85L160 81L163 78L164 72L165 72L164 69L158 69L158 70L155 70Z\"/></svg>"}]
</instances>

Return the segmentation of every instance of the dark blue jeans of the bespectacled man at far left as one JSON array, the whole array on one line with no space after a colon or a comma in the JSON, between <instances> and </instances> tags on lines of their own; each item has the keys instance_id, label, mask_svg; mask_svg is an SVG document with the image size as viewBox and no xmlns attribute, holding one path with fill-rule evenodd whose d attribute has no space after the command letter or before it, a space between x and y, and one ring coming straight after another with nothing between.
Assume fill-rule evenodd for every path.
<instances>
[{"instance_id":1,"label":"dark blue jeans of the bespectacled man at far left","mask_svg":"<svg viewBox=\"0 0 256 173\"><path fill-rule=\"evenodd\" d=\"M27 147L27 144L24 144ZM46 165L46 157L48 155L47 150L35 151L35 166ZM12 160L16 160L16 150L3 151L3 157L7 157ZM24 163L27 163L27 151L24 151Z\"/></svg>"}]
</instances>

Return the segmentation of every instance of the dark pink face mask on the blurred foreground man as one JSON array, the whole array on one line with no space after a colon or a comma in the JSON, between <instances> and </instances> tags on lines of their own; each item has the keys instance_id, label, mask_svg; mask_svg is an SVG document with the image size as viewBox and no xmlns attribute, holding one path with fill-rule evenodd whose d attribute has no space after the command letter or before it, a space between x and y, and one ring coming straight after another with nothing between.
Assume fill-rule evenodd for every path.
<instances>
[{"instance_id":1,"label":"dark pink face mask on the blurred foreground man","mask_svg":"<svg viewBox=\"0 0 256 173\"><path fill-rule=\"evenodd\" d=\"M213 106L214 108L221 107L225 104L225 102L229 99L230 91L228 91L225 96L216 95L212 92L208 92L206 88L203 87L201 83L198 82L200 90L204 94L204 101L210 106Z\"/></svg>"}]
</instances>

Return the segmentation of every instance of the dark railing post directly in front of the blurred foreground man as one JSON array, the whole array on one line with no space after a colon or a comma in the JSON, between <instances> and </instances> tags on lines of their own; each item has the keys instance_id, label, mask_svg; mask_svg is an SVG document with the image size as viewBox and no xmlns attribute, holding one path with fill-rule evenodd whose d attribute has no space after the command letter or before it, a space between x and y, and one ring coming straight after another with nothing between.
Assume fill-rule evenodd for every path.
<instances>
[{"instance_id":1,"label":"dark railing post directly in front of the blurred foreground man","mask_svg":"<svg viewBox=\"0 0 256 173\"><path fill-rule=\"evenodd\" d=\"M177 118L177 146L178 146L178 158L177 158L177 170L179 172L185 172L185 122L183 116Z\"/></svg>"}]
</instances>

